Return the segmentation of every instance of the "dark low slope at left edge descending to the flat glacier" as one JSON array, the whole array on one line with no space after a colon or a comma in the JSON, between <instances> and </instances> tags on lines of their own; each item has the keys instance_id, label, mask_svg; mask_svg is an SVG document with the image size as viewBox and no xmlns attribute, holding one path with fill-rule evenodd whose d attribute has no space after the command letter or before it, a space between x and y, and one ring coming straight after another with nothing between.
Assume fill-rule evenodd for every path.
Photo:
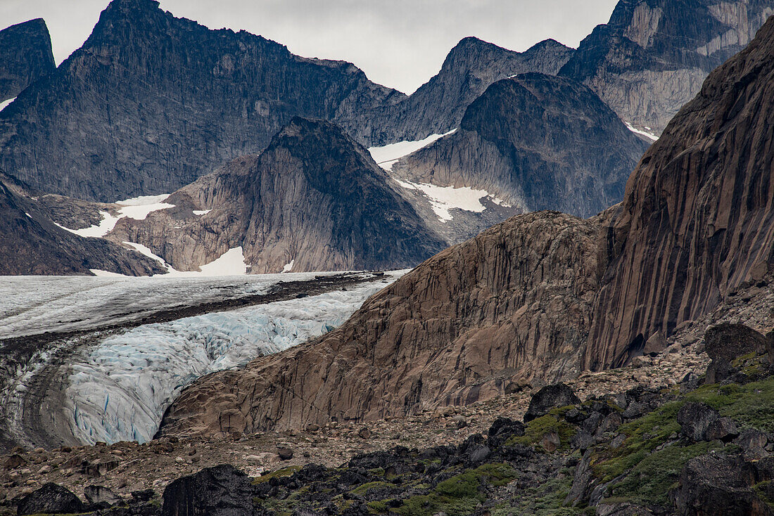
<instances>
[{"instance_id":1,"label":"dark low slope at left edge descending to the flat glacier","mask_svg":"<svg viewBox=\"0 0 774 516\"><path fill-rule=\"evenodd\" d=\"M113 242L71 234L47 212L19 183L0 175L0 275L91 275L90 269L125 275L166 272Z\"/></svg>"}]
</instances>

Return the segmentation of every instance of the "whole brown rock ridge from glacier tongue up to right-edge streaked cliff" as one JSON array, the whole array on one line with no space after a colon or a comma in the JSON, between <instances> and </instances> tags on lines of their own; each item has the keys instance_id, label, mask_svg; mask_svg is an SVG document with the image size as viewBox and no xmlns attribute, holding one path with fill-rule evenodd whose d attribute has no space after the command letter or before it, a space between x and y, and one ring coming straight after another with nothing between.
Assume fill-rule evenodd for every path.
<instances>
[{"instance_id":1,"label":"whole brown rock ridge from glacier tongue up to right-edge streaked cliff","mask_svg":"<svg viewBox=\"0 0 774 516\"><path fill-rule=\"evenodd\" d=\"M184 391L163 432L401 415L663 348L657 332L772 261L772 52L774 19L677 115L622 206L592 220L519 216L450 248L337 332Z\"/></svg>"}]
</instances>

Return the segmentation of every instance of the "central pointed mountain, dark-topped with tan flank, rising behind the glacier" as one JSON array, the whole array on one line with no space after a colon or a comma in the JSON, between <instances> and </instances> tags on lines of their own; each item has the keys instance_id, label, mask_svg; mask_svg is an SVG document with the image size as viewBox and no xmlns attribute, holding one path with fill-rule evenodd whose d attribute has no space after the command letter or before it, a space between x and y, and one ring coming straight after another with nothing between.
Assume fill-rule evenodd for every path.
<instances>
[{"instance_id":1,"label":"central pointed mountain, dark-topped with tan flank, rising behind the glacier","mask_svg":"<svg viewBox=\"0 0 774 516\"><path fill-rule=\"evenodd\" d=\"M174 209L119 221L110 237L183 270L238 246L255 273L291 262L294 272L406 268L446 244L393 186L341 128L294 118L261 155L174 193Z\"/></svg>"}]
</instances>

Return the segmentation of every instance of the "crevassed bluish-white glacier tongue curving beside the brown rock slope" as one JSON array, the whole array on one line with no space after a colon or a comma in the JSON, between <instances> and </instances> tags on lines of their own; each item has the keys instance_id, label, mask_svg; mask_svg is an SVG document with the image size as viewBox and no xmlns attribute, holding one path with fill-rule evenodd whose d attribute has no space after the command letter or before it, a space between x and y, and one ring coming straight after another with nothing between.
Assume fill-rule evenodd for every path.
<instances>
[{"instance_id":1,"label":"crevassed bluish-white glacier tongue curving beside the brown rock slope","mask_svg":"<svg viewBox=\"0 0 774 516\"><path fill-rule=\"evenodd\" d=\"M405 272L385 279L395 281ZM108 337L71 365L65 411L74 436L83 443L145 443L166 407L192 381L327 333L385 286L371 282Z\"/></svg>"}]
</instances>

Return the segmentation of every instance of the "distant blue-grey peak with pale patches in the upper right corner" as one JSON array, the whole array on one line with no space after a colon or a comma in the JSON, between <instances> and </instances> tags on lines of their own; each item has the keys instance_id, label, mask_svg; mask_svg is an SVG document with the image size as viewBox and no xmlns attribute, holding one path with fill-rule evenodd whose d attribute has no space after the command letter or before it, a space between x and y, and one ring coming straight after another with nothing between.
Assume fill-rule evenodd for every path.
<instances>
[{"instance_id":1,"label":"distant blue-grey peak with pale patches in the upper right corner","mask_svg":"<svg viewBox=\"0 0 774 516\"><path fill-rule=\"evenodd\" d=\"M560 75L591 87L635 127L660 133L772 13L768 0L622 0Z\"/></svg>"}]
</instances>

